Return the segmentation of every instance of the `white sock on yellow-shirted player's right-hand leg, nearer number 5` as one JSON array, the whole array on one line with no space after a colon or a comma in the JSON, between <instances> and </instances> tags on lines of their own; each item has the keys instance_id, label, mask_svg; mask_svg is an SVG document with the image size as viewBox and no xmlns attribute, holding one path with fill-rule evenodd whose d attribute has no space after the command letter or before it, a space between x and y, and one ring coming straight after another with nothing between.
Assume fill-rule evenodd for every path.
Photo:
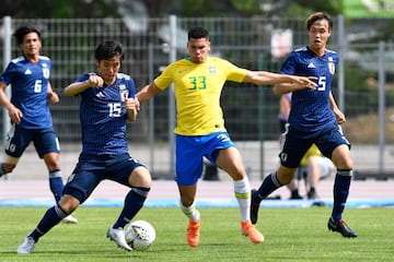
<instances>
[{"instance_id":1,"label":"white sock on yellow-shirted player's right-hand leg, nearer number 5","mask_svg":"<svg viewBox=\"0 0 394 262\"><path fill-rule=\"evenodd\" d=\"M239 202L241 221L251 219L251 184L246 176L241 180L234 181L234 193Z\"/></svg>"}]
</instances>

